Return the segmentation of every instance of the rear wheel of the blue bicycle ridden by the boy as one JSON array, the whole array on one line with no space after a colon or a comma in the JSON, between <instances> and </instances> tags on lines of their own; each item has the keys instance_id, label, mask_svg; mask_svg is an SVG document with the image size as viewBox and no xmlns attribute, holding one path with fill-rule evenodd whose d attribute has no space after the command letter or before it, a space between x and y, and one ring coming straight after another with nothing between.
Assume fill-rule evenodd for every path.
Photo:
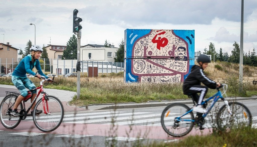
<instances>
[{"instance_id":1,"label":"rear wheel of the blue bicycle ridden by the boy","mask_svg":"<svg viewBox=\"0 0 257 147\"><path fill-rule=\"evenodd\" d=\"M188 134L193 126L192 121L176 121L175 118L188 112L190 108L182 103L173 103L167 106L161 115L161 125L166 133L174 137L182 137ZM194 120L193 112L182 116L180 119Z\"/></svg>"}]
</instances>

